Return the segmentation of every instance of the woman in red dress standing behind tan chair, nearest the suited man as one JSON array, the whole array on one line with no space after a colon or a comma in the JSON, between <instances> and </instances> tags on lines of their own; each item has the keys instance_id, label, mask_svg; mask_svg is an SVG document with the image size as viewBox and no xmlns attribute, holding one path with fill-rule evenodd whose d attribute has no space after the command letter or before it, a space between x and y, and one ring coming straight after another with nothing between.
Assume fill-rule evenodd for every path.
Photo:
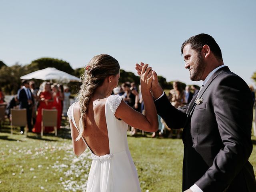
<instances>
[{"instance_id":1,"label":"woman in red dress standing behind tan chair, nearest the suited man","mask_svg":"<svg viewBox=\"0 0 256 192\"><path fill-rule=\"evenodd\" d=\"M38 92L38 108L37 108L37 116L36 116L36 123L32 132L40 133L41 132L41 121L42 121L42 109L52 109L52 92L50 88L50 84L48 82L43 82L42 84L43 90ZM44 132L52 132L54 131L53 127L45 127Z\"/></svg>"}]
</instances>

